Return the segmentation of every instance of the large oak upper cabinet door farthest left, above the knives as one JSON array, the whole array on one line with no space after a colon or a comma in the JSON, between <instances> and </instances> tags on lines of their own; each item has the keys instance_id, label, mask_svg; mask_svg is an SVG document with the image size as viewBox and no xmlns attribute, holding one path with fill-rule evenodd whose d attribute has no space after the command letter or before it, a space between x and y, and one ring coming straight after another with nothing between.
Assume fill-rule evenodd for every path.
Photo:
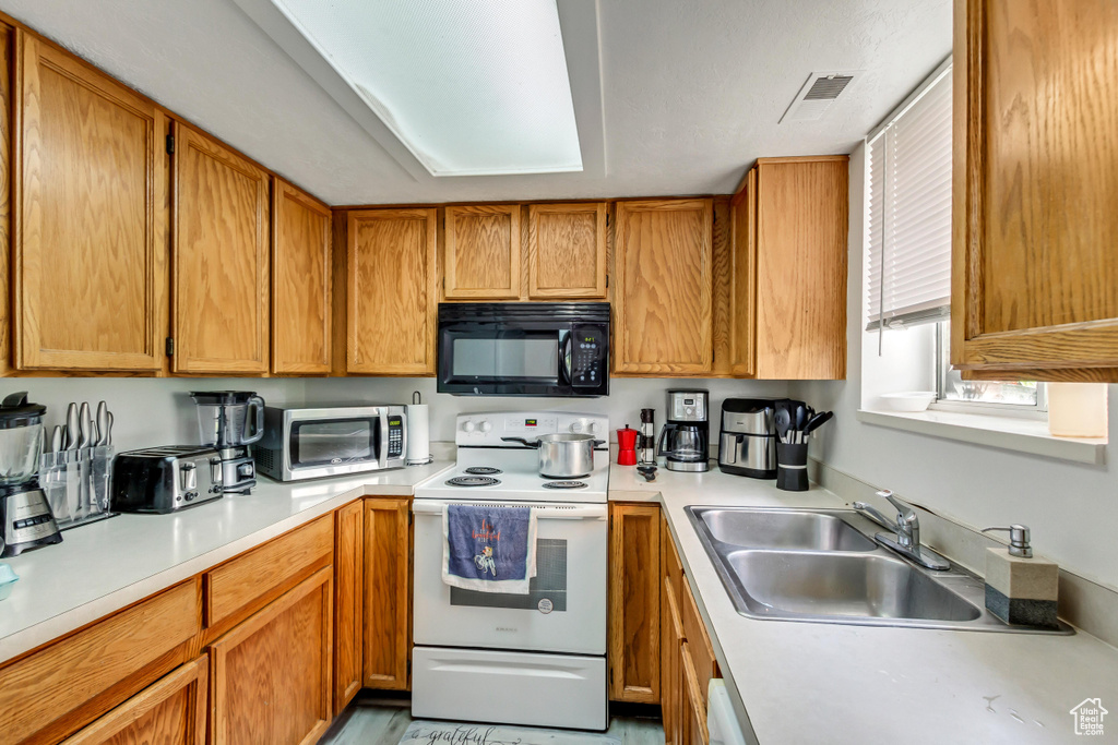
<instances>
[{"instance_id":1,"label":"large oak upper cabinet door farthest left, above the knives","mask_svg":"<svg viewBox=\"0 0 1118 745\"><path fill-rule=\"evenodd\" d=\"M17 38L16 365L158 371L167 120L49 42Z\"/></svg>"}]
</instances>

